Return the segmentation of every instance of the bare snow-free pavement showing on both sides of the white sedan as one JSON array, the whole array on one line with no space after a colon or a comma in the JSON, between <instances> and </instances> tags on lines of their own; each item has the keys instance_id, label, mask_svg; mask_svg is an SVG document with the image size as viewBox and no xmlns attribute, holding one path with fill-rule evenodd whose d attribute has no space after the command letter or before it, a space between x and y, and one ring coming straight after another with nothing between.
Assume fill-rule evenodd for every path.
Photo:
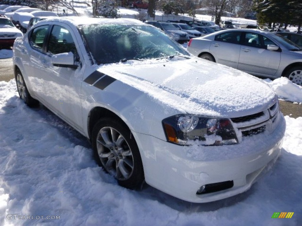
<instances>
[{"instance_id":1,"label":"bare snow-free pavement showing on both sides of the white sedan","mask_svg":"<svg viewBox=\"0 0 302 226\"><path fill-rule=\"evenodd\" d=\"M6 81L14 78L12 58L0 59L0 81ZM302 105L293 104L287 101L279 101L281 111L284 115L293 118L302 117Z\"/></svg>"}]
</instances>

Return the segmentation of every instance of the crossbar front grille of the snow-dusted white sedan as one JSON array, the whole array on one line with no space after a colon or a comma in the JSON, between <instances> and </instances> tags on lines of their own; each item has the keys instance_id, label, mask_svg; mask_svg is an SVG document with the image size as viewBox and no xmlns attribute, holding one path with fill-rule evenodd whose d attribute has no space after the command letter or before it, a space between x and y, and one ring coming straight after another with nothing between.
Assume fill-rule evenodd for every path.
<instances>
[{"instance_id":1,"label":"crossbar front grille of the snow-dusted white sedan","mask_svg":"<svg viewBox=\"0 0 302 226\"><path fill-rule=\"evenodd\" d=\"M275 122L279 112L278 101L265 111L253 115L246 115L238 118L231 118L234 127L242 132L243 137L262 133L267 126Z\"/></svg>"}]
</instances>

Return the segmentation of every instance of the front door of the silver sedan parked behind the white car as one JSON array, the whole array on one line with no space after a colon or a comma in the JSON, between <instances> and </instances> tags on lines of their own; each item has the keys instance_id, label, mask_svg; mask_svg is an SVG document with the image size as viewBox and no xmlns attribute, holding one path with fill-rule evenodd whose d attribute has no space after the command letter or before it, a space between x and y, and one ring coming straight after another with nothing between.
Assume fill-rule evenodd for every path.
<instances>
[{"instance_id":1,"label":"front door of the silver sedan parked behind the white car","mask_svg":"<svg viewBox=\"0 0 302 226\"><path fill-rule=\"evenodd\" d=\"M277 45L266 36L254 32L245 32L243 40L238 69L258 76L274 76L280 64L281 52L270 51L267 46Z\"/></svg>"}]
</instances>

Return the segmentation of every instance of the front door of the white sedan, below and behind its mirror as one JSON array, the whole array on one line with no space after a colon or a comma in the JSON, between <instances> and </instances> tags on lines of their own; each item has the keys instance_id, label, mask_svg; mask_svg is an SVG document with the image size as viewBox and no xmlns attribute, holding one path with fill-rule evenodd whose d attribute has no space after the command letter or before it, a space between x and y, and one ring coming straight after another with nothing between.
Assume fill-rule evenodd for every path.
<instances>
[{"instance_id":1,"label":"front door of the white sedan, below and behind its mirror","mask_svg":"<svg viewBox=\"0 0 302 226\"><path fill-rule=\"evenodd\" d=\"M51 27L43 61L47 68L47 73L43 74L43 94L52 111L81 130L81 82L84 69L80 63L82 55L76 46L79 46L76 36L69 26L54 24ZM53 55L66 52L73 53L77 68L54 66L51 63Z\"/></svg>"}]
</instances>

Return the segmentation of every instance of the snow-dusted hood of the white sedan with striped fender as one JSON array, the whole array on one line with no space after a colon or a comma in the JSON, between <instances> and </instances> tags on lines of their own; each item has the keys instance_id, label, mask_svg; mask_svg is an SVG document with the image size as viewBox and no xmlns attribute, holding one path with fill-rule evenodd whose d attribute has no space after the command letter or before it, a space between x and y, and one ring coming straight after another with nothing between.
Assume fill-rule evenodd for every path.
<instances>
[{"instance_id":1,"label":"snow-dusted hood of the white sedan with striped fender","mask_svg":"<svg viewBox=\"0 0 302 226\"><path fill-rule=\"evenodd\" d=\"M277 101L274 91L251 75L198 58L175 58L103 65L98 71L190 114L240 117Z\"/></svg>"}]
</instances>

